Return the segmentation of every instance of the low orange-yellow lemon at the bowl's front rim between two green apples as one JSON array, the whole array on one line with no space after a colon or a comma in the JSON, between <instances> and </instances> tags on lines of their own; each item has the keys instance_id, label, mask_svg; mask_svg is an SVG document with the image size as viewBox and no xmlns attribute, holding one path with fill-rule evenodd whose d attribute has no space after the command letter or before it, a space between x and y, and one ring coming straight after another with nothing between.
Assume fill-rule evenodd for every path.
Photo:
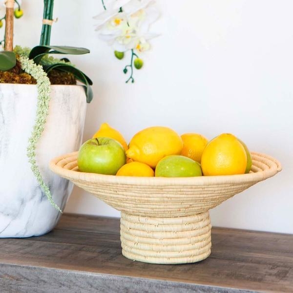
<instances>
[{"instance_id":1,"label":"low orange-yellow lemon at the bowl's front rim between two green apples","mask_svg":"<svg viewBox=\"0 0 293 293\"><path fill-rule=\"evenodd\" d=\"M153 177L154 175L154 170L141 162L130 162L122 166L116 173L116 176Z\"/></svg>"}]
</instances>

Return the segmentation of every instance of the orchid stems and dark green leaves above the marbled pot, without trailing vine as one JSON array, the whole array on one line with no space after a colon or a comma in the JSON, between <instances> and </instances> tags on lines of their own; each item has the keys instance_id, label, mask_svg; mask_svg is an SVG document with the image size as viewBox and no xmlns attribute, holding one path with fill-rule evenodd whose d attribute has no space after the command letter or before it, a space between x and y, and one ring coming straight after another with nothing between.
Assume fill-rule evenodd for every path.
<instances>
[{"instance_id":1,"label":"orchid stems and dark green leaves above the marbled pot, without trailing vine","mask_svg":"<svg viewBox=\"0 0 293 293\"><path fill-rule=\"evenodd\" d=\"M88 49L77 48L70 46L52 46L50 45L51 26L54 22L53 6L54 0L44 0L43 20L42 20L42 34L40 45L34 47L32 50L20 50L20 47L13 48L13 20L14 17L20 18L23 15L21 10L21 0L1 0L5 3L5 14L1 21L5 20L5 37L1 43L4 43L4 51L0 52L0 70L7 71L15 67L17 62L17 55L22 55L36 64L41 64L44 72L49 73L51 70L58 70L61 72L70 72L76 80L85 85L86 100L89 103L93 98L93 93L90 85L91 80L79 69L77 69L67 58L63 59L48 59L44 58L48 54L86 54ZM15 8L14 8L15 7ZM1 23L0 23L1 24ZM0 25L1 26L1 25ZM14 51L13 51L14 50ZM17 53L17 54L16 54Z\"/></svg>"}]
</instances>

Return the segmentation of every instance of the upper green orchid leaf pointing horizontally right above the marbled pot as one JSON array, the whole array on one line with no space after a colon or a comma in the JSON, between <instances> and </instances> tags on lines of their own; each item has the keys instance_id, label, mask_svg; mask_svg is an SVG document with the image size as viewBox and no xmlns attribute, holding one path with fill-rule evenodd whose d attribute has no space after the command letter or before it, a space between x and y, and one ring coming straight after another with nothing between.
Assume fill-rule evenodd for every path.
<instances>
[{"instance_id":1,"label":"upper green orchid leaf pointing horizontally right above the marbled pot","mask_svg":"<svg viewBox=\"0 0 293 293\"><path fill-rule=\"evenodd\" d=\"M42 57L47 54L71 54L71 55L81 55L89 53L88 49L70 47L70 46L36 46L32 48L29 53L28 58L33 59L36 64L39 64Z\"/></svg>"}]
</instances>

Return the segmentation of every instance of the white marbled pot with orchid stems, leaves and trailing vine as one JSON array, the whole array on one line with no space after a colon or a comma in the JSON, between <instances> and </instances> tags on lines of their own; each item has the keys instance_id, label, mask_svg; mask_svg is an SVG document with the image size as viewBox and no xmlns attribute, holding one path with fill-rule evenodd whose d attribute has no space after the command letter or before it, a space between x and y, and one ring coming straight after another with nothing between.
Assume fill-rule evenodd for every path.
<instances>
[{"instance_id":1,"label":"white marbled pot with orchid stems, leaves and trailing vine","mask_svg":"<svg viewBox=\"0 0 293 293\"><path fill-rule=\"evenodd\" d=\"M5 5L0 52L0 237L29 237L52 230L62 214L73 185L54 175L48 163L79 148L86 102L93 97L92 82L82 71L67 58L48 54L89 50L50 45L53 0L44 0L40 45L31 50L13 47L13 21L22 10L20 1L6 0Z\"/></svg>"}]
</instances>

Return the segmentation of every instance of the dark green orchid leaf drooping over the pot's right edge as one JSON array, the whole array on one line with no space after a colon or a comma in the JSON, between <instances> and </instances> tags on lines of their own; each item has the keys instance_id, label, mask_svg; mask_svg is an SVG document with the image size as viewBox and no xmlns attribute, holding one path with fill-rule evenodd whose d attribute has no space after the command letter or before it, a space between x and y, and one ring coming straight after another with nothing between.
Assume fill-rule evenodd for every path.
<instances>
[{"instance_id":1,"label":"dark green orchid leaf drooping over the pot's right edge","mask_svg":"<svg viewBox=\"0 0 293 293\"><path fill-rule=\"evenodd\" d=\"M87 77L81 70L77 69L76 67L64 64L64 63L57 63L53 65L43 66L45 72L49 72L52 69L60 70L63 72L70 72L72 73L77 80L82 82L85 85L85 95L86 95L86 102L90 103L93 99L93 90L91 85L93 84L89 77Z\"/></svg>"}]
</instances>

